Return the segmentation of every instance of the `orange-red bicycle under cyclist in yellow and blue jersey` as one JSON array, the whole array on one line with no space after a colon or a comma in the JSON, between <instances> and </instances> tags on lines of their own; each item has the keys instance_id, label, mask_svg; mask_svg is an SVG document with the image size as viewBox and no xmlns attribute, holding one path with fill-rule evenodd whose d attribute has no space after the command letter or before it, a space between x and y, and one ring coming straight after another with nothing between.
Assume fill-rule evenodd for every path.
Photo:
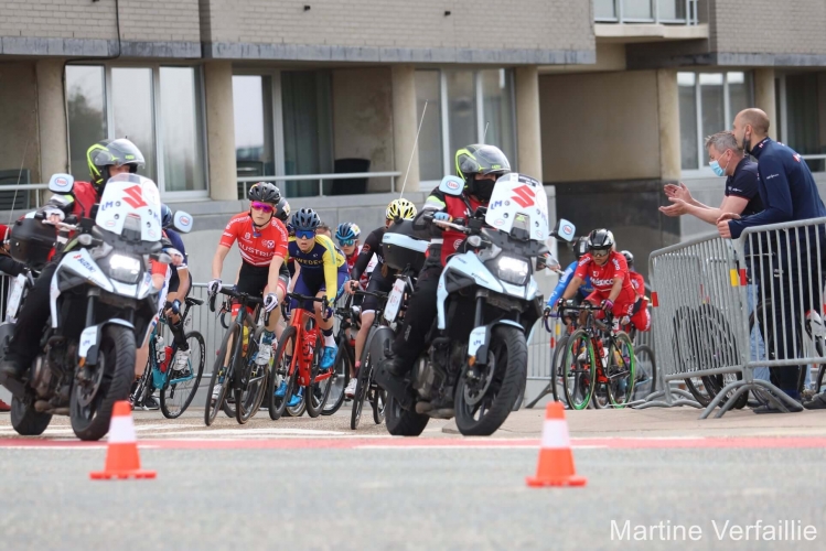
<instances>
[{"instance_id":1,"label":"orange-red bicycle under cyclist in yellow and blue jersey","mask_svg":"<svg viewBox=\"0 0 826 551\"><path fill-rule=\"evenodd\" d=\"M304 302L321 302L326 307L326 299L287 293L285 301L291 299L299 302L299 307L293 309L290 324L281 333L272 365L272 377L267 386L267 393L271 397L269 417L273 421L283 415L297 387L303 389L307 413L311 418L319 417L330 397L333 382L332 367L323 374L319 372L323 350L321 329L314 324L314 315L301 307ZM276 396L276 390L280 389L282 381L287 381L283 396ZM328 382L322 389L320 383L324 381ZM317 395L315 389L320 396Z\"/></svg>"}]
</instances>

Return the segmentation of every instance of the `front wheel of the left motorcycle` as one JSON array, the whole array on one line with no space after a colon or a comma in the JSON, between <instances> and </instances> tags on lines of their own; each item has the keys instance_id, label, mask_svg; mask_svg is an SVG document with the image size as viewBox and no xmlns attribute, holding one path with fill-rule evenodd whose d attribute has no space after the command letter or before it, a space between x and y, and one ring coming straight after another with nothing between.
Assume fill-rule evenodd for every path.
<instances>
[{"instance_id":1,"label":"front wheel of the left motorcycle","mask_svg":"<svg viewBox=\"0 0 826 551\"><path fill-rule=\"evenodd\" d=\"M100 440L109 431L115 402L129 398L135 379L135 333L107 325L100 335L97 365L88 380L75 379L69 400L72 430L81 440Z\"/></svg>"}]
</instances>

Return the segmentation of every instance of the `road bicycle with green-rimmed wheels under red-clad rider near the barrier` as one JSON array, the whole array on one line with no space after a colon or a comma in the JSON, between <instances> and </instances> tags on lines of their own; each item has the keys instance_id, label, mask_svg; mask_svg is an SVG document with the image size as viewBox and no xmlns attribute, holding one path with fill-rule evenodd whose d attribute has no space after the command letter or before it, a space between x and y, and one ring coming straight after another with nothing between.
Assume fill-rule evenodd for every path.
<instances>
[{"instance_id":1,"label":"road bicycle with green-rimmed wheels under red-clad rider near the barrier","mask_svg":"<svg viewBox=\"0 0 826 551\"><path fill-rule=\"evenodd\" d=\"M613 315L605 312L605 321L598 320L594 312L599 306L583 303L579 306L564 306L566 311L587 312L582 327L568 338L562 356L562 378L565 396L571 409L588 407L596 393L597 385L604 387L604 404L623 408L634 393L635 369L634 345L623 331L613 329ZM600 350L599 360L596 349ZM572 358L572 361L571 361Z\"/></svg>"}]
</instances>

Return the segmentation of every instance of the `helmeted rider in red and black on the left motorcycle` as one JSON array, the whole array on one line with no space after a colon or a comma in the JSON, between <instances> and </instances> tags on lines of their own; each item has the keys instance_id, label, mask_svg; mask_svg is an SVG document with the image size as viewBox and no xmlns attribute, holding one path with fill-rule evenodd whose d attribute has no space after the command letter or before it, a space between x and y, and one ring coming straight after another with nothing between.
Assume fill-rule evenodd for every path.
<instances>
[{"instance_id":1,"label":"helmeted rider in red and black on the left motorcycle","mask_svg":"<svg viewBox=\"0 0 826 551\"><path fill-rule=\"evenodd\" d=\"M53 195L39 212L49 222L63 220L67 214L89 218L93 207L100 201L110 177L137 173L146 164L140 150L126 138L101 140L86 151L90 182L75 182L68 195ZM0 371L8 377L21 378L37 355L43 326L50 315L50 285L60 259L54 259L41 271L21 309L14 333L7 347Z\"/></svg>"}]
</instances>

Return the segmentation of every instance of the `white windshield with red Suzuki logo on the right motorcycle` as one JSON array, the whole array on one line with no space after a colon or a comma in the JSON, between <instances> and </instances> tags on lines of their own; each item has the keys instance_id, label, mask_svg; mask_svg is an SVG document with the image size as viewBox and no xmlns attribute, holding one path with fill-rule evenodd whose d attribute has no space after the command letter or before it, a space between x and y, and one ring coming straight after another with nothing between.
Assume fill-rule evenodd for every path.
<instances>
[{"instance_id":1,"label":"white windshield with red Suzuki logo on the right motorcycle","mask_svg":"<svg viewBox=\"0 0 826 551\"><path fill-rule=\"evenodd\" d=\"M516 239L548 238L548 196L541 182L512 172L496 181L485 223Z\"/></svg>"}]
</instances>

